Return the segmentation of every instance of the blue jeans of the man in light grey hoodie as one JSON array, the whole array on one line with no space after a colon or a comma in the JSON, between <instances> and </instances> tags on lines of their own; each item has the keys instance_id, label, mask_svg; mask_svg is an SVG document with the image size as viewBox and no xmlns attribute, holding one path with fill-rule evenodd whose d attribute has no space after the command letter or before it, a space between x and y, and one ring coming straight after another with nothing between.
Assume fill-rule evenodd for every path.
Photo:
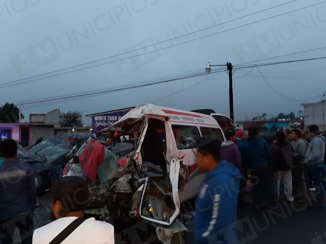
<instances>
[{"instance_id":1,"label":"blue jeans of the man in light grey hoodie","mask_svg":"<svg viewBox=\"0 0 326 244\"><path fill-rule=\"evenodd\" d=\"M322 173L324 170L324 161L309 165L309 171L311 173L312 180L314 181L314 186L316 187L316 205L323 205L323 198L325 189L322 183Z\"/></svg>"}]
</instances>

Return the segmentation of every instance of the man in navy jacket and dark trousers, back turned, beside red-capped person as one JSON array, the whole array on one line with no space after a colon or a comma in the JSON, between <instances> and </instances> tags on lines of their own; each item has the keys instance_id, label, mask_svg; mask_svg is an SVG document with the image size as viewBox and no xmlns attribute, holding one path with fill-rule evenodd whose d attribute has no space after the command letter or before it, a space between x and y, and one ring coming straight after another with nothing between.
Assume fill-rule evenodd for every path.
<instances>
[{"instance_id":1,"label":"man in navy jacket and dark trousers, back turned, beside red-capped person","mask_svg":"<svg viewBox=\"0 0 326 244\"><path fill-rule=\"evenodd\" d=\"M250 172L253 179L253 204L275 207L272 194L272 152L266 140L258 136L256 128L248 129L249 138L244 141L242 148L243 165L245 174ZM265 194L265 195L263 195ZM267 199L267 203L261 203L259 199Z\"/></svg>"}]
</instances>

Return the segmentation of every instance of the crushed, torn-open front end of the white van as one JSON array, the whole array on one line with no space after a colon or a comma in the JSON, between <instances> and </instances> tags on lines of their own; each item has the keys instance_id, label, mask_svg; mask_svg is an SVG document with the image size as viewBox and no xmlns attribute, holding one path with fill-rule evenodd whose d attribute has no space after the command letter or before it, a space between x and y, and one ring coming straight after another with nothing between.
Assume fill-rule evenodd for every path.
<instances>
[{"instance_id":1,"label":"crushed, torn-open front end of the white van","mask_svg":"<svg viewBox=\"0 0 326 244\"><path fill-rule=\"evenodd\" d=\"M179 158L166 161L167 169L156 162L143 162L141 145L148 123L147 116L127 118L90 137L63 175L78 175L89 182L86 214L113 223L117 231L144 220L157 226L156 233L163 243L170 243L174 232L186 230L177 219L185 166ZM129 138L120 141L114 136L116 131Z\"/></svg>"}]
</instances>

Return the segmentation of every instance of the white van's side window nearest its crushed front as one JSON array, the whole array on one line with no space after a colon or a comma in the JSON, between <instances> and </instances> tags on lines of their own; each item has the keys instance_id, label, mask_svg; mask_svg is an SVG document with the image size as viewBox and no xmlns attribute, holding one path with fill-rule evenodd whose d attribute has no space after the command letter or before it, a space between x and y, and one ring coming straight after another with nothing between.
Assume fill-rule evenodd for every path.
<instances>
[{"instance_id":1,"label":"white van's side window nearest its crushed front","mask_svg":"<svg viewBox=\"0 0 326 244\"><path fill-rule=\"evenodd\" d=\"M172 125L172 131L179 150L193 148L196 139L200 138L196 126Z\"/></svg>"}]
</instances>

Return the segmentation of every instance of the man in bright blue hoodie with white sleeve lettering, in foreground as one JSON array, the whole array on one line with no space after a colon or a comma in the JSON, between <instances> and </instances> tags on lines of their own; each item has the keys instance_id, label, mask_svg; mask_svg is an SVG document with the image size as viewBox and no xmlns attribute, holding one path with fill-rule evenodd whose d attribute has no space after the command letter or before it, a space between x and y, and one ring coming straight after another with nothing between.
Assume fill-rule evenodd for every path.
<instances>
[{"instance_id":1,"label":"man in bright blue hoodie with white sleeve lettering, in foreground","mask_svg":"<svg viewBox=\"0 0 326 244\"><path fill-rule=\"evenodd\" d=\"M220 142L216 139L206 139L198 145L196 161L207 175L196 202L194 243L238 243L240 170L220 160Z\"/></svg>"}]
</instances>

